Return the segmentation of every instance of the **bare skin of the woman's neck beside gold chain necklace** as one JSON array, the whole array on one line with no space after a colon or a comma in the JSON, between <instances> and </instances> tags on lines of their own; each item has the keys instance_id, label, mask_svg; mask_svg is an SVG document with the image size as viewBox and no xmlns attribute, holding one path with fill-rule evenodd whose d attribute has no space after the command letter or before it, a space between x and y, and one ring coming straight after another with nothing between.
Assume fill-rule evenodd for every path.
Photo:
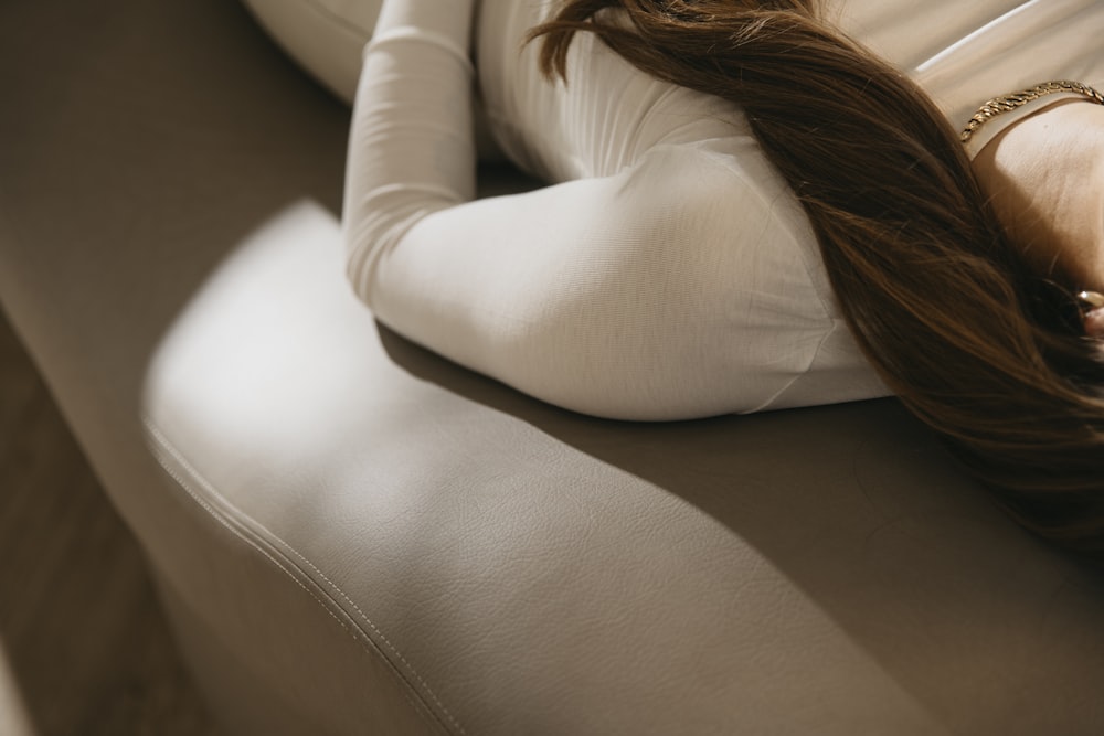
<instances>
[{"instance_id":1,"label":"bare skin of the woman's neck beside gold chain necklace","mask_svg":"<svg viewBox=\"0 0 1104 736\"><path fill-rule=\"evenodd\" d=\"M1018 120L974 171L1029 263L1104 290L1104 106L1068 100Z\"/></svg>"}]
</instances>

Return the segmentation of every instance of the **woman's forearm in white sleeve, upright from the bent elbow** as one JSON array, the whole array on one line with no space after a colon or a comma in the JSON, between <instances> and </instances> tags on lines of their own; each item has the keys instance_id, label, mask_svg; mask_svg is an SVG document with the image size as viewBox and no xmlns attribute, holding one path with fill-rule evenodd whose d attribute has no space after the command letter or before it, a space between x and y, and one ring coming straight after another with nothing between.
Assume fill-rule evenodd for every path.
<instances>
[{"instance_id":1,"label":"woman's forearm in white sleeve, upright from the bent elbow","mask_svg":"<svg viewBox=\"0 0 1104 736\"><path fill-rule=\"evenodd\" d=\"M364 52L346 174L349 273L371 302L376 266L426 214L470 200L474 0L386 0Z\"/></svg>"}]
</instances>

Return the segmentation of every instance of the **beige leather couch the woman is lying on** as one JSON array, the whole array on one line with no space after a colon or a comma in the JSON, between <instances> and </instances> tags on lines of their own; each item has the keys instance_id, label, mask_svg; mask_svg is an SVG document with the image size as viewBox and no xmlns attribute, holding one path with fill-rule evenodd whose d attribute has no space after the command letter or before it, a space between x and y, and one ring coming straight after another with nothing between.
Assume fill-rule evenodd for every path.
<instances>
[{"instance_id":1,"label":"beige leather couch the woman is lying on","mask_svg":"<svg viewBox=\"0 0 1104 736\"><path fill-rule=\"evenodd\" d=\"M229 734L1104 733L1102 576L892 401L599 422L378 327L238 3L0 3L0 106L3 308Z\"/></svg>"}]
</instances>

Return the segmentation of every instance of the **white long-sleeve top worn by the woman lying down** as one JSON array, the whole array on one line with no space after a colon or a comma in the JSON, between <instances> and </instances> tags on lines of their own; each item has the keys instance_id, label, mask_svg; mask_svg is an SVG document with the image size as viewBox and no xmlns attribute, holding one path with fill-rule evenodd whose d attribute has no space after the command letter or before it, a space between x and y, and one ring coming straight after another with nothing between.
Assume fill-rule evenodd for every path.
<instances>
[{"instance_id":1,"label":"white long-sleeve top worn by the woman lying down","mask_svg":"<svg viewBox=\"0 0 1104 736\"><path fill-rule=\"evenodd\" d=\"M553 6L384 1L346 192L360 298L446 358L598 416L884 395L740 109L652 79L585 33L566 85L549 83L522 39ZM837 7L956 124L1039 82L1104 81L1098 0ZM498 145L548 186L473 200L474 84Z\"/></svg>"}]
</instances>

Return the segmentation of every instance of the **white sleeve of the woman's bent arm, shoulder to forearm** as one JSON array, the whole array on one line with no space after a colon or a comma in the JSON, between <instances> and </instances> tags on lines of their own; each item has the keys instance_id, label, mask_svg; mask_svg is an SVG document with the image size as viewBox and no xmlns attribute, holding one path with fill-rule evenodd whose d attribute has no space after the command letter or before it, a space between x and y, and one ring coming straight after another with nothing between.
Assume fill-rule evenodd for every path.
<instances>
[{"instance_id":1,"label":"white sleeve of the woman's bent arm, shoulder to forearm","mask_svg":"<svg viewBox=\"0 0 1104 736\"><path fill-rule=\"evenodd\" d=\"M741 185L670 147L614 177L471 201L469 15L461 0L384 6L346 195L359 297L406 338L586 414L769 406L834 327L795 255L800 215L763 198L763 175Z\"/></svg>"}]
</instances>

